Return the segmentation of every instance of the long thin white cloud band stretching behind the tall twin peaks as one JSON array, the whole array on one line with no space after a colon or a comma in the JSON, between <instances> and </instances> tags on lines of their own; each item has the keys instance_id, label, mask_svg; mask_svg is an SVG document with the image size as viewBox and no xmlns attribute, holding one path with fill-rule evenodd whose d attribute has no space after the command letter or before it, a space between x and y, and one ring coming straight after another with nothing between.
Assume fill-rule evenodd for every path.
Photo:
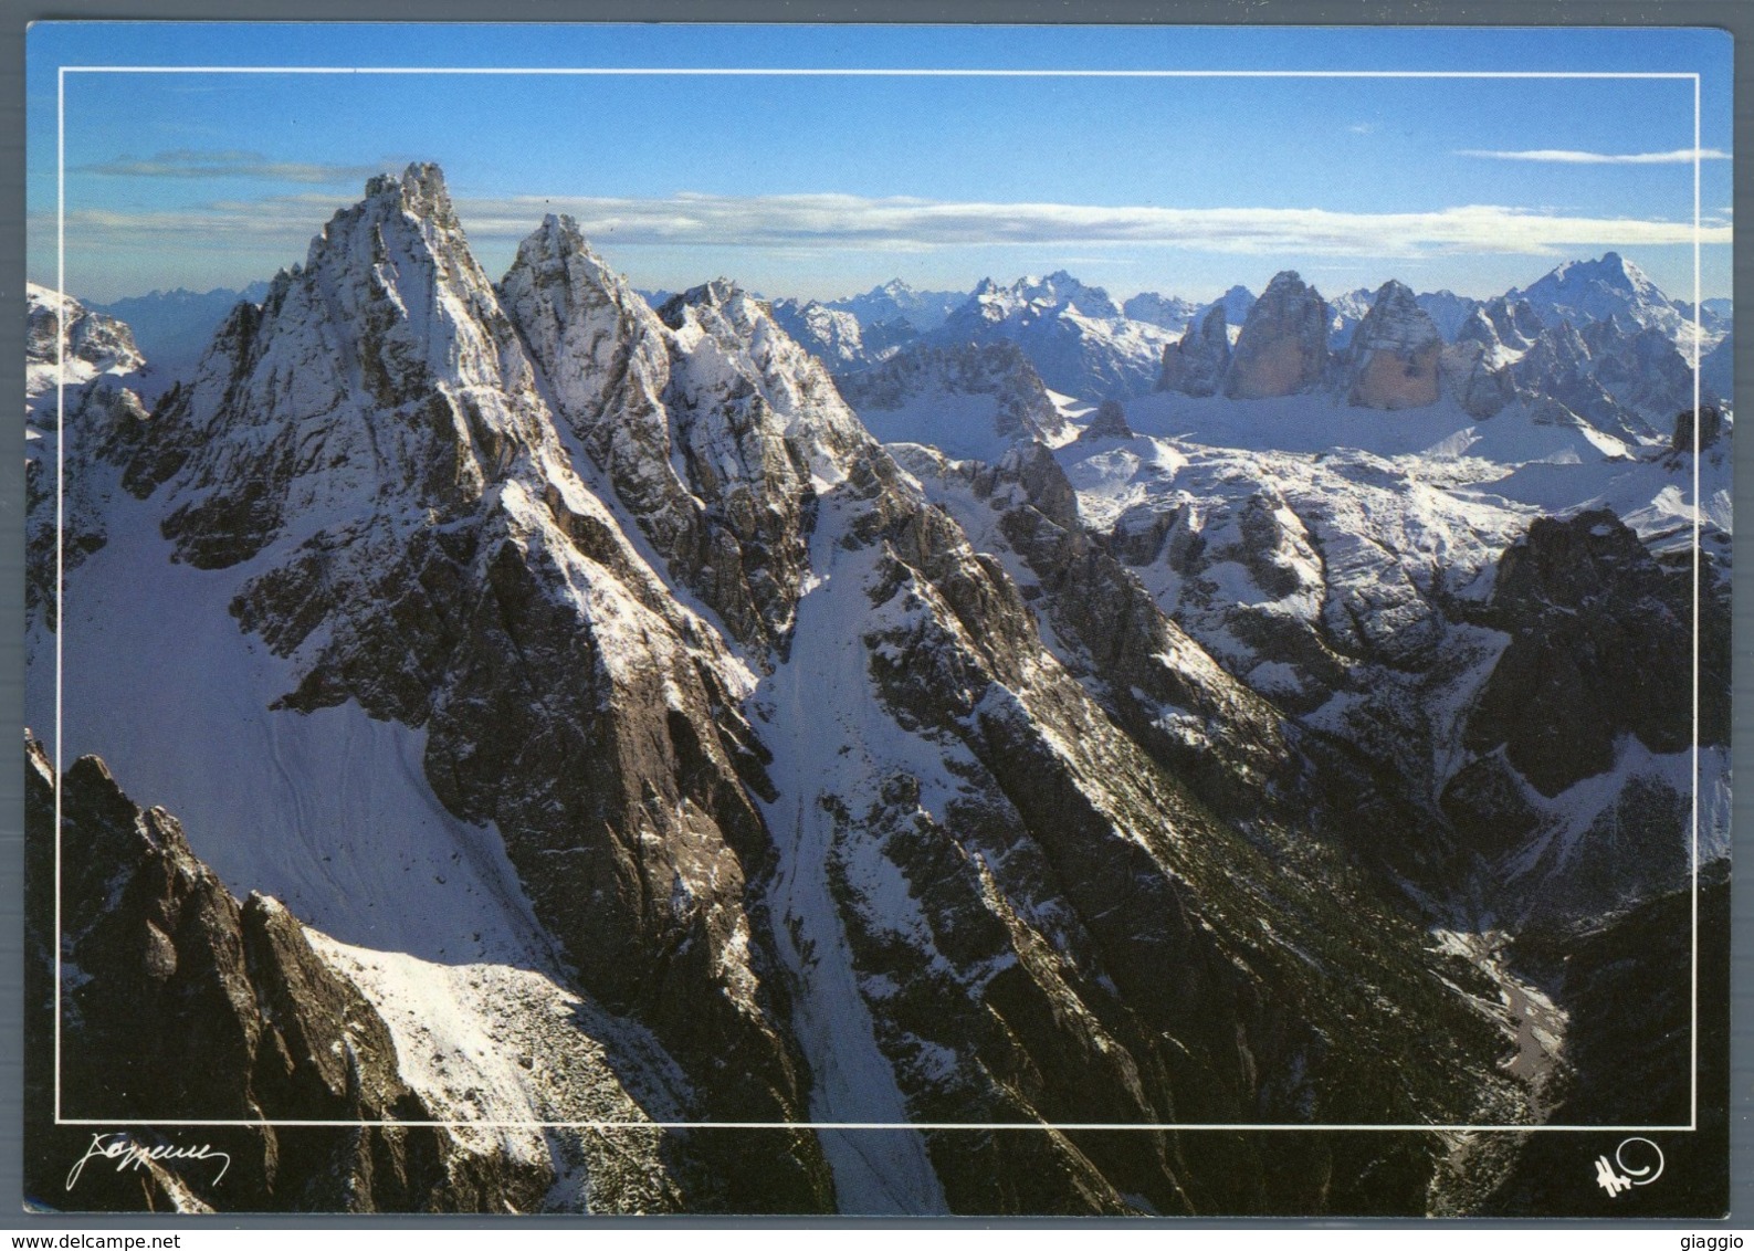
<instances>
[{"instance_id":1,"label":"long thin white cloud band stretching behind the tall twin peaks","mask_svg":"<svg viewBox=\"0 0 1754 1251\"><path fill-rule=\"evenodd\" d=\"M188 212L74 211L70 240L95 247L165 246L172 239L239 239L300 247L351 197L317 193L221 202ZM1166 209L1079 204L982 204L852 195L665 198L509 197L460 198L458 214L477 240L517 240L547 212L577 218L603 247L698 246L938 251L1005 244L1058 247L1179 247L1286 256L1533 254L1579 247L1691 244L1691 221L1589 218L1503 205L1428 212L1330 209ZM1731 226L1710 223L1700 242L1728 244Z\"/></svg>"}]
</instances>

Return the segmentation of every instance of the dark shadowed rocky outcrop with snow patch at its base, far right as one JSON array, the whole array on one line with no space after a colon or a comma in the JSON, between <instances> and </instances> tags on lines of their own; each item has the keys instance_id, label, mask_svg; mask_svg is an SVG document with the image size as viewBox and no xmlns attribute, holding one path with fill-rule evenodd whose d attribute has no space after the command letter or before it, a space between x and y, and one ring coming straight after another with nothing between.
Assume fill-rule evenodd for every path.
<instances>
[{"instance_id":1,"label":"dark shadowed rocky outcrop with snow patch at its base, far right","mask_svg":"<svg viewBox=\"0 0 1754 1251\"><path fill-rule=\"evenodd\" d=\"M1470 758L1442 807L1498 867L1500 911L1558 926L1682 886L1694 783L1665 760L1694 744L1701 858L1721 837L1707 811L1729 735L1729 591L1715 561L1694 609L1691 558L1659 561L1605 509L1540 518L1501 558L1479 619L1510 642L1466 716Z\"/></svg>"}]
</instances>

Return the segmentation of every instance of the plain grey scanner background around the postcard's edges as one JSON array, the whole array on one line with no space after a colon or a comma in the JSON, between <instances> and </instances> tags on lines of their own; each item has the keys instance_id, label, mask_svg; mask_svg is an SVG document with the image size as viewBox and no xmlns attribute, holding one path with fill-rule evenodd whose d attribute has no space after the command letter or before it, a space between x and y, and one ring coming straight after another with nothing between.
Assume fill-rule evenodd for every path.
<instances>
[{"instance_id":1,"label":"plain grey scanner background around the postcard's edges","mask_svg":"<svg viewBox=\"0 0 1754 1251\"><path fill-rule=\"evenodd\" d=\"M1173 23L1173 25L1407 25L1407 26L1719 26L1736 37L1735 209L1750 219L1754 197L1754 4L1747 0L0 0L0 395L25 391L25 30L51 19L188 21L745 21L745 23ZM1754 244L1736 240L1735 302L1754 309ZM1754 395L1754 346L1736 347L1736 407ZM23 451L23 442L19 444ZM1736 440L1735 509L1754 518L1754 433ZM1754 561L1735 568L1733 760L1754 779ZM0 456L0 726L23 726L25 674L25 470L23 456ZM16 744L14 744L16 749ZM18 760L18 758L14 758ZM139 1216L46 1216L23 1212L23 770L0 767L0 1228L140 1228ZM1643 1228L1754 1228L1754 783L1735 793L1733 858L1733 1056L1729 1070L1731 1214L1715 1230L1659 1221ZM16 1216L14 1216L16 1214ZM647 1225L651 1218L524 1216L526 1225ZM384 1223L505 1228L505 1218L151 1218L154 1228L335 1228ZM733 1218L665 1218L667 1226L751 1225ZM823 1218L763 1219L765 1226L831 1225ZM858 1221L866 1226L924 1221ZM1123 1221L1124 1225L1137 1225ZM947 1225L947 1221L931 1221ZM980 1221L989 1225L989 1221ZM1110 1225L1098 1219L1016 1219L1014 1226ZM1230 1221L1177 1221L1179 1228ZM1249 1221L1249 1228L1372 1225L1421 1230L1452 1221ZM1540 1221L1468 1221L1473 1228L1542 1226ZM1554 1223L1547 1223L1552 1226ZM1565 1225L1596 1225L1570 1221Z\"/></svg>"}]
</instances>

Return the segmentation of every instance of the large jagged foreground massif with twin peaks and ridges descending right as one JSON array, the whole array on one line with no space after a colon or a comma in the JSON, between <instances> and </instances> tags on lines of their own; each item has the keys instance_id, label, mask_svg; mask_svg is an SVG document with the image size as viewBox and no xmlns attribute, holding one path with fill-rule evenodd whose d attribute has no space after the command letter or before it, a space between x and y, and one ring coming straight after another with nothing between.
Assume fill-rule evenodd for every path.
<instances>
[{"instance_id":1,"label":"large jagged foreground massif with twin peaks and ridges descending right","mask_svg":"<svg viewBox=\"0 0 1754 1251\"><path fill-rule=\"evenodd\" d=\"M1293 816L1333 753L1091 539L1052 456L903 472L728 284L652 312L549 219L495 288L412 168L144 426L100 460L235 579L296 676L274 716L421 732L684 1119L1529 1116L1452 990L1479 974ZM696 1202L733 1211L1424 1211L1445 1154L1312 1135L1375 1179L1323 1193L1256 1139L700 1137Z\"/></svg>"}]
</instances>

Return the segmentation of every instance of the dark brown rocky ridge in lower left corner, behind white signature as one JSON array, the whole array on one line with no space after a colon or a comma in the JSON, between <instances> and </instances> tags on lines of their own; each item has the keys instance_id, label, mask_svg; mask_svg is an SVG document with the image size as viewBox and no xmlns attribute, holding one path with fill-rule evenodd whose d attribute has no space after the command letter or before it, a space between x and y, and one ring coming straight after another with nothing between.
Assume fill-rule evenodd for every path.
<instances>
[{"instance_id":1,"label":"dark brown rocky ridge in lower left corner, behind white signature","mask_svg":"<svg viewBox=\"0 0 1754 1251\"><path fill-rule=\"evenodd\" d=\"M32 1104L54 1105L53 898L61 847L60 1112L102 1119L242 1119L142 1147L195 1146L225 1160L123 1172L93 1160L93 1132L32 1118L26 1191L72 1207L177 1211L530 1211L553 1174L435 1126L296 1128L286 1121L428 1121L396 1047L360 990L312 951L275 900L240 907L189 851L175 818L140 809L103 761L56 779L26 740L32 839Z\"/></svg>"}]
</instances>

